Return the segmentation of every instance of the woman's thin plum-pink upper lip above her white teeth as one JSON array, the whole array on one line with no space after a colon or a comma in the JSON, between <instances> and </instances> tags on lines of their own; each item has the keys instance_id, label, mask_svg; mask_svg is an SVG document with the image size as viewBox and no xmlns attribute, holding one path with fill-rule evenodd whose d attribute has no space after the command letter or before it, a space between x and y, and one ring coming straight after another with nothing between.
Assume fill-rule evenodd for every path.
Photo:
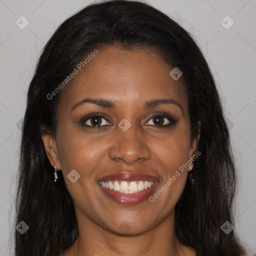
<instances>
[{"instance_id":1,"label":"woman's thin plum-pink upper lip above her white teeth","mask_svg":"<svg viewBox=\"0 0 256 256\"><path fill-rule=\"evenodd\" d=\"M147 181L158 181L158 179L154 176L140 173L140 172L118 172L105 175L99 180L125 180L125 181L135 181L135 180L147 180Z\"/></svg>"}]
</instances>

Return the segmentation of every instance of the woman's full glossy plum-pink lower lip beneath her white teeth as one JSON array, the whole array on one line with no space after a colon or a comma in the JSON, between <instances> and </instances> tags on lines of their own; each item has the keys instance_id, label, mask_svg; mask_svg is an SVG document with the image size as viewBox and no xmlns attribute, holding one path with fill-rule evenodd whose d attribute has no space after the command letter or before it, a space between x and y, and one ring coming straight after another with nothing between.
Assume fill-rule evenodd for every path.
<instances>
[{"instance_id":1,"label":"woman's full glossy plum-pink lower lip beneath her white teeth","mask_svg":"<svg viewBox=\"0 0 256 256\"><path fill-rule=\"evenodd\" d=\"M106 188L101 184L98 184L105 195L111 198L113 201L122 204L132 204L132 203L140 203L146 200L152 193L154 188L157 186L158 181L154 181L153 185L145 190L139 191L137 193L125 194L119 193L113 189Z\"/></svg>"}]
</instances>

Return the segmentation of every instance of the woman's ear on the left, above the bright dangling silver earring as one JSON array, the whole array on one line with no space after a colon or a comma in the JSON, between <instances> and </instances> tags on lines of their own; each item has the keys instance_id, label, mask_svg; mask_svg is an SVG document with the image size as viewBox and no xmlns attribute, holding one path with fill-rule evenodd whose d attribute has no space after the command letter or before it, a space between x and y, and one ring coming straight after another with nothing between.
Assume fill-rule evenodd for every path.
<instances>
[{"instance_id":1,"label":"woman's ear on the left, above the bright dangling silver earring","mask_svg":"<svg viewBox=\"0 0 256 256\"><path fill-rule=\"evenodd\" d=\"M58 158L56 138L49 131L47 131L47 129L41 127L41 139L50 164L52 166L55 165L56 169L60 170L61 166Z\"/></svg>"}]
</instances>

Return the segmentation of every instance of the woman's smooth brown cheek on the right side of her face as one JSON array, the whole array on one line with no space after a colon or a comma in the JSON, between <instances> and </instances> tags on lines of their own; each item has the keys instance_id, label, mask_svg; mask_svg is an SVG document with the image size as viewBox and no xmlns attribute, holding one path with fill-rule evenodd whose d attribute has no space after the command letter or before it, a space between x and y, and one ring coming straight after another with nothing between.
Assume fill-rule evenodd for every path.
<instances>
[{"instance_id":1,"label":"woman's smooth brown cheek on the right side of her face","mask_svg":"<svg viewBox=\"0 0 256 256\"><path fill-rule=\"evenodd\" d=\"M174 129L164 139L151 139L152 155L155 155L160 168L164 170L158 192L153 196L166 206L166 212L175 206L186 183L190 135L186 126L183 127Z\"/></svg>"}]
</instances>

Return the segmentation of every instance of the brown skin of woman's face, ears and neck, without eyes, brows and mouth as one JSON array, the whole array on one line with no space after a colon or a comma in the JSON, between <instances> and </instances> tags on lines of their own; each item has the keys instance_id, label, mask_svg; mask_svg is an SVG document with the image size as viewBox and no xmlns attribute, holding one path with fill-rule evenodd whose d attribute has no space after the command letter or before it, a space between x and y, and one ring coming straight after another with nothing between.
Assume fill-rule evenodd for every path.
<instances>
[{"instance_id":1,"label":"brown skin of woman's face, ears and neck, without eyes, brows and mouth","mask_svg":"<svg viewBox=\"0 0 256 256\"><path fill-rule=\"evenodd\" d=\"M174 232L174 207L192 165L154 202L119 204L97 184L107 174L142 172L158 178L156 192L196 152L184 86L181 79L170 77L171 69L152 49L129 51L109 46L100 49L65 88L57 109L56 136L42 134L49 161L63 172L74 200L79 234L65 256L196 255L177 241ZM87 97L111 100L115 107L84 103L71 110ZM181 107L143 107L146 101L161 98L172 98ZM106 119L100 119L101 125L109 125L97 129L79 124L83 116L95 112ZM155 112L168 113L178 121L157 128L157 120L152 118ZM118 127L123 118L131 123L125 132ZM161 125L169 123L165 117L162 120ZM92 125L90 121L86 124ZM74 183L66 177L72 169L80 174ZM123 222L129 227L127 232L119 228Z\"/></svg>"}]
</instances>

